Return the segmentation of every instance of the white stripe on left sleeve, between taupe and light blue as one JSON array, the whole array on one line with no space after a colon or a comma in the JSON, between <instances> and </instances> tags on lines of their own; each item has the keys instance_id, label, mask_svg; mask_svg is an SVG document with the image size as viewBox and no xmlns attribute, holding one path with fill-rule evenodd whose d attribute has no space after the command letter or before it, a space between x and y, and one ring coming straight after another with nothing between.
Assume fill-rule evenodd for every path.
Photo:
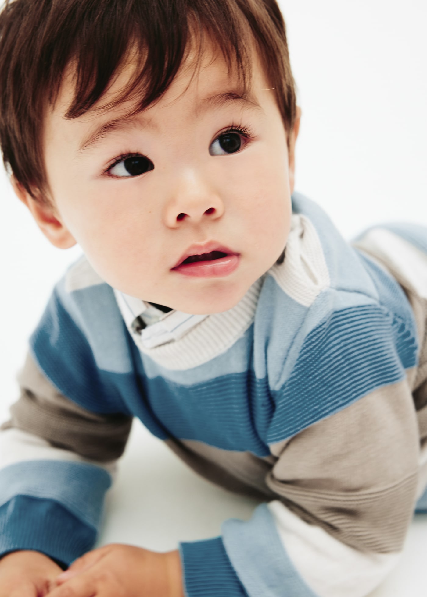
<instances>
[{"instance_id":1,"label":"white stripe on left sleeve, between taupe and light blue","mask_svg":"<svg viewBox=\"0 0 427 597\"><path fill-rule=\"evenodd\" d=\"M117 475L115 460L99 463L97 460L83 458L69 450L54 448L45 439L14 427L0 431L0 469L28 460L66 460L96 464L109 472L112 481Z\"/></svg>"}]
</instances>

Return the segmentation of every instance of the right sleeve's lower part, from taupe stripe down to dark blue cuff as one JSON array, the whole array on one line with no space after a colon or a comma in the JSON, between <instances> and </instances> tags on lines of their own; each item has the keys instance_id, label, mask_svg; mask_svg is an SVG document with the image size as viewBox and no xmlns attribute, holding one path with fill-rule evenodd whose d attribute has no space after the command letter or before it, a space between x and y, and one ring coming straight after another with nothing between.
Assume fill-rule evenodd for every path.
<instances>
[{"instance_id":1,"label":"right sleeve's lower part, from taupe stripe down to dark blue cuff","mask_svg":"<svg viewBox=\"0 0 427 597\"><path fill-rule=\"evenodd\" d=\"M405 381L270 448L276 500L225 521L221 538L182 544L188 595L205 583L219 596L221 582L236 597L369 595L398 562L419 491Z\"/></svg>"}]
</instances>

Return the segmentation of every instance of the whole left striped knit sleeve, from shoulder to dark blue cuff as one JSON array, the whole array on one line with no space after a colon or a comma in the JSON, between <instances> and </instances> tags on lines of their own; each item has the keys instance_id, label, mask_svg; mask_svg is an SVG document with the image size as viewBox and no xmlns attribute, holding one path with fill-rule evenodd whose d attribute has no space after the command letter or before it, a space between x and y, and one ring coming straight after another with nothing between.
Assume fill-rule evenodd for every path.
<instances>
[{"instance_id":1,"label":"whole left striped knit sleeve, from shoulder to dark blue cuff","mask_svg":"<svg viewBox=\"0 0 427 597\"><path fill-rule=\"evenodd\" d=\"M63 567L96 541L132 424L65 287L66 278L31 337L20 397L0 427L0 556L37 550ZM108 312L105 288L90 289L75 293Z\"/></svg>"}]
</instances>

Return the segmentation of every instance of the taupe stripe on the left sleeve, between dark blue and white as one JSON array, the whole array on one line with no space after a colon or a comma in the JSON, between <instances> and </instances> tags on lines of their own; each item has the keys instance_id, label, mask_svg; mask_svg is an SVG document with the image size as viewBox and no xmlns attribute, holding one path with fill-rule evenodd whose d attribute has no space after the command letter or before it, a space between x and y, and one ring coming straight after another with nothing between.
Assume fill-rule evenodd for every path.
<instances>
[{"instance_id":1,"label":"taupe stripe on the left sleeve, between dark blue and white","mask_svg":"<svg viewBox=\"0 0 427 597\"><path fill-rule=\"evenodd\" d=\"M46 439L56 448L99 462L115 460L123 454L132 417L97 414L81 408L51 385L30 353L18 381L20 398L11 406L11 418L0 430L16 427Z\"/></svg>"}]
</instances>

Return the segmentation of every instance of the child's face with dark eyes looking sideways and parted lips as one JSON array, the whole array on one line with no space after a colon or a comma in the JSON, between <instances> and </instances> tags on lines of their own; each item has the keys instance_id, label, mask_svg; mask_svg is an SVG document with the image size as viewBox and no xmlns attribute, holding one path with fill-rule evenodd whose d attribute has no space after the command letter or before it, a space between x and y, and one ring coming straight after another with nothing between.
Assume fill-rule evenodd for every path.
<instances>
[{"instance_id":1,"label":"child's face with dark eyes looking sideways and parted lips","mask_svg":"<svg viewBox=\"0 0 427 597\"><path fill-rule=\"evenodd\" d=\"M34 202L29 207L53 244L69 247L78 242L112 287L205 314L231 309L282 253L291 219L294 164L273 91L258 61L253 94L260 107L254 108L237 100L203 103L236 90L218 54L214 61L206 54L200 76L182 93L191 78L190 60L133 127L109 131L82 152L79 146L90 131L120 119L133 104L66 120L62 115L73 91L72 78L66 79L47 115L44 137L56 219ZM121 74L102 105L123 88L128 76L129 71ZM248 128L252 138L233 133L218 140L231 125ZM291 148L294 141L291 136ZM103 172L126 153L148 159L122 159ZM234 258L237 267L211 277L172 269L190 245L207 241L239 254Z\"/></svg>"}]
</instances>

